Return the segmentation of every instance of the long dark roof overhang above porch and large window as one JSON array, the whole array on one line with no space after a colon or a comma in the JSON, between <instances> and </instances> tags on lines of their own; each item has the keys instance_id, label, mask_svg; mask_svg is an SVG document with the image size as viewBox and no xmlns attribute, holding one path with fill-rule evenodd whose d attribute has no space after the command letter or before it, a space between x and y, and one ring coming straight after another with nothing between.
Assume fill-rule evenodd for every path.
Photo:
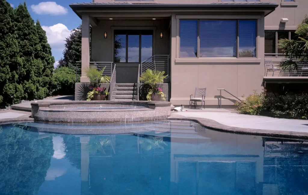
<instances>
[{"instance_id":1,"label":"long dark roof overhang above porch and large window","mask_svg":"<svg viewBox=\"0 0 308 195\"><path fill-rule=\"evenodd\" d=\"M73 3L71 9L81 18L83 12L93 11L254 11L264 12L265 16L273 12L276 3L209 3L209 4L159 4L159 3Z\"/></svg>"}]
</instances>

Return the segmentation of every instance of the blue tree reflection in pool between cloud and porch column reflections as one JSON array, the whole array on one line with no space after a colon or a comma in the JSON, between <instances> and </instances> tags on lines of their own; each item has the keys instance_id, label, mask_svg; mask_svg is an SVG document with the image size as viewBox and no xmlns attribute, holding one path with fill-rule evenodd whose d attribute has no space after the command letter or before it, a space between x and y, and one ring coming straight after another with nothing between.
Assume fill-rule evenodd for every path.
<instances>
[{"instance_id":1,"label":"blue tree reflection in pool between cloud and porch column reflections","mask_svg":"<svg viewBox=\"0 0 308 195\"><path fill-rule=\"evenodd\" d=\"M81 146L80 138L75 135L62 135L64 143L65 158L75 166L81 169Z\"/></svg>"}]
</instances>

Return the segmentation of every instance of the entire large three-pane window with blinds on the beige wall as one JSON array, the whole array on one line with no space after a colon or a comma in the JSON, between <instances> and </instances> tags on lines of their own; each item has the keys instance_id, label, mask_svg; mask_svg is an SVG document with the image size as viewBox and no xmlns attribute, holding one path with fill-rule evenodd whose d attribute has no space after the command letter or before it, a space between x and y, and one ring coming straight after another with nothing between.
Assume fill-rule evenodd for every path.
<instances>
[{"instance_id":1,"label":"entire large three-pane window with blinds on the beige wall","mask_svg":"<svg viewBox=\"0 0 308 195\"><path fill-rule=\"evenodd\" d=\"M180 57L256 57L256 20L180 20Z\"/></svg>"}]
</instances>

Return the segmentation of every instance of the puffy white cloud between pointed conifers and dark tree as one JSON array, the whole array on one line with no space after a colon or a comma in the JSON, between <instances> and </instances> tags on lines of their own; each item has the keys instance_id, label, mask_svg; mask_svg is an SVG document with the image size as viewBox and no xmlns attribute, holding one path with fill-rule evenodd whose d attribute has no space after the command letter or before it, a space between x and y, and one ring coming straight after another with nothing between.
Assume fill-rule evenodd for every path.
<instances>
[{"instance_id":1,"label":"puffy white cloud between pointed conifers and dark tree","mask_svg":"<svg viewBox=\"0 0 308 195\"><path fill-rule=\"evenodd\" d=\"M42 28L46 31L47 40L51 48L63 51L65 38L70 36L71 31L61 23L53 26L42 26Z\"/></svg>"}]
</instances>

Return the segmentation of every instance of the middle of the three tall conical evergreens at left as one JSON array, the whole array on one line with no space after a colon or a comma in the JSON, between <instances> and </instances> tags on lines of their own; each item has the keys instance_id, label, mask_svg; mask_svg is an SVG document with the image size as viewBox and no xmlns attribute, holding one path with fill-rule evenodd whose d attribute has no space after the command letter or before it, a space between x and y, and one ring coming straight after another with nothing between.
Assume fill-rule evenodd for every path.
<instances>
[{"instance_id":1,"label":"middle of the three tall conical evergreens at left","mask_svg":"<svg viewBox=\"0 0 308 195\"><path fill-rule=\"evenodd\" d=\"M36 32L34 21L31 18L26 2L15 9L14 22L16 26L17 41L20 48L20 58L23 71L19 75L19 82L24 89L25 99L42 99L47 95L47 89L43 85L42 72L44 65L41 59L35 58L36 53L42 52L39 37Z\"/></svg>"}]
</instances>

